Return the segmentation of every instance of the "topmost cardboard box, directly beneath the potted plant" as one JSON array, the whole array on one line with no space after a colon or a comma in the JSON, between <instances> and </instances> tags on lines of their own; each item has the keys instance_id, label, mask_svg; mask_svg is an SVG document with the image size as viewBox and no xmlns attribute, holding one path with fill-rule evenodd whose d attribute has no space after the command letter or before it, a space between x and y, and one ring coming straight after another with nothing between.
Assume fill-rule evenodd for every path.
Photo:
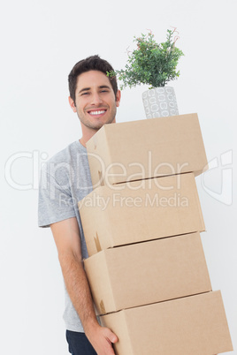
<instances>
[{"instance_id":1,"label":"topmost cardboard box, directly beneath the potted plant","mask_svg":"<svg viewBox=\"0 0 237 355\"><path fill-rule=\"evenodd\" d=\"M94 188L207 169L197 114L103 125L87 149Z\"/></svg>"}]
</instances>

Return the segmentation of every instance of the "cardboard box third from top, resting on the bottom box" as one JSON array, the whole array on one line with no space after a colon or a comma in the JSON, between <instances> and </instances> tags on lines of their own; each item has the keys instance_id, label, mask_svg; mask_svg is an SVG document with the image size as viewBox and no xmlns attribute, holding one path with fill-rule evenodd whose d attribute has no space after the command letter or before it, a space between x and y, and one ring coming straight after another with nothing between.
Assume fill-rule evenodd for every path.
<instances>
[{"instance_id":1,"label":"cardboard box third from top, resting on the bottom box","mask_svg":"<svg viewBox=\"0 0 237 355\"><path fill-rule=\"evenodd\" d=\"M99 314L211 291L199 233L103 250L84 264Z\"/></svg>"}]
</instances>

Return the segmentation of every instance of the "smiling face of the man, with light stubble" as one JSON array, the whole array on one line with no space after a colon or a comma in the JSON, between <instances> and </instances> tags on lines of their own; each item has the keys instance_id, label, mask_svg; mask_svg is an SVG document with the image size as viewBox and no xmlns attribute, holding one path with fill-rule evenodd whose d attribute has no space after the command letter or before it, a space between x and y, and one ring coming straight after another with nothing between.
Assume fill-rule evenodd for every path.
<instances>
[{"instance_id":1,"label":"smiling face of the man, with light stubble","mask_svg":"<svg viewBox=\"0 0 237 355\"><path fill-rule=\"evenodd\" d=\"M115 122L120 92L116 97L110 79L98 71L83 72L77 79L75 102L69 98L73 112L77 112L81 125L98 130L104 124Z\"/></svg>"}]
</instances>

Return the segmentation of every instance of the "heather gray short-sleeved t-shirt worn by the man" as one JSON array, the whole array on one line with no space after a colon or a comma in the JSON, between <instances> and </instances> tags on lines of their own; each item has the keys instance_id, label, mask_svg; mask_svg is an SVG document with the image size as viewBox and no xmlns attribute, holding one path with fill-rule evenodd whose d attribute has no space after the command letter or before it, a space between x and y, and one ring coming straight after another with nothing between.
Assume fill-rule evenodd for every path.
<instances>
[{"instance_id":1,"label":"heather gray short-sleeved t-shirt worn by the man","mask_svg":"<svg viewBox=\"0 0 237 355\"><path fill-rule=\"evenodd\" d=\"M88 250L80 222L78 202L92 191L86 147L75 141L43 165L39 187L39 226L77 218L83 259ZM65 290L65 328L83 332L80 318Z\"/></svg>"}]
</instances>

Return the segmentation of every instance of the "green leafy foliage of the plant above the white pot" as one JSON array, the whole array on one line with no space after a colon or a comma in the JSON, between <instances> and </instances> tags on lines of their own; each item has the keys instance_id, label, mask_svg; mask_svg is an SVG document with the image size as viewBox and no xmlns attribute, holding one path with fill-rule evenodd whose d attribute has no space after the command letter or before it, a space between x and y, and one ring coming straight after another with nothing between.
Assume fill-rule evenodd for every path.
<instances>
[{"instance_id":1,"label":"green leafy foliage of the plant above the white pot","mask_svg":"<svg viewBox=\"0 0 237 355\"><path fill-rule=\"evenodd\" d=\"M160 44L154 39L154 34L141 34L134 37L137 48L129 54L125 70L107 72L108 76L117 75L122 81L121 89L148 84L149 88L164 87L170 80L177 79L180 72L177 64L183 52L175 46L178 37L173 39L174 30L167 30L166 41Z\"/></svg>"}]
</instances>

